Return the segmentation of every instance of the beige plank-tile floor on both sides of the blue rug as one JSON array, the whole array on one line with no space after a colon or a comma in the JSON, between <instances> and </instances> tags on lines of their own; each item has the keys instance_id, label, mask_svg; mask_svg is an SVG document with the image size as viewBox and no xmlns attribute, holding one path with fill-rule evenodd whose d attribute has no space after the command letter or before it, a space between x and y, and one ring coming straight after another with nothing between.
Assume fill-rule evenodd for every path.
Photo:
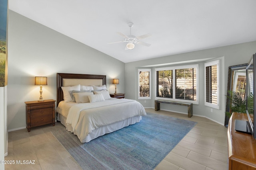
<instances>
[{"instance_id":1,"label":"beige plank-tile floor on both sides of the blue rug","mask_svg":"<svg viewBox=\"0 0 256 170\"><path fill-rule=\"evenodd\" d=\"M180 119L198 122L178 145L158 164L155 170L227 170L227 128L204 117L154 111ZM5 165L5 170L80 170L80 166L62 147L51 131L64 128L60 123L8 133L8 156L15 164ZM34 160L34 164L16 164L16 161ZM33 163L33 162L30 162Z\"/></svg>"}]
</instances>

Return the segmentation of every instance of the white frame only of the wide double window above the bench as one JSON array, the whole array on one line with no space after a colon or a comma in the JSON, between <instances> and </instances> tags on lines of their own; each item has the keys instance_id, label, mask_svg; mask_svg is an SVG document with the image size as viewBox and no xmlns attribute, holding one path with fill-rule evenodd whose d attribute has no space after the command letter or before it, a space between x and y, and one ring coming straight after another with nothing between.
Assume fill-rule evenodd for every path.
<instances>
[{"instance_id":1,"label":"white frame only of the wide double window above the bench","mask_svg":"<svg viewBox=\"0 0 256 170\"><path fill-rule=\"evenodd\" d=\"M170 67L162 67L162 68L155 68L155 78L156 77L156 71L161 71L161 70L172 70L172 78L173 78L173 84L172 84L172 98L161 98L156 96L155 92L155 98L156 100L169 100L169 101L176 101L176 102L186 102L186 103L192 103L192 104L198 104L199 103L199 76L198 76L198 64L191 64L191 65L183 65L183 66L170 66ZM184 99L176 99L175 95L175 85L176 85L176 77L175 77L175 70L177 69L186 69L186 68L196 68L196 100L184 100ZM155 89L157 87L156 81L155 81Z\"/></svg>"}]
</instances>

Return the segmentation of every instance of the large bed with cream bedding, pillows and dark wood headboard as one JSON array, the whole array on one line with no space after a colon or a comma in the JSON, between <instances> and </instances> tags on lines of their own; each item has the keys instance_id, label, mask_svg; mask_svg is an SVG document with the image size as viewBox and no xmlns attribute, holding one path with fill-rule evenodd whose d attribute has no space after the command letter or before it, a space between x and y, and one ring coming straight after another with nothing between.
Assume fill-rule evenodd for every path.
<instances>
[{"instance_id":1,"label":"large bed with cream bedding, pillows and dark wood headboard","mask_svg":"<svg viewBox=\"0 0 256 170\"><path fill-rule=\"evenodd\" d=\"M81 143L140 122L136 100L111 98L105 75L57 73L57 120Z\"/></svg>"}]
</instances>

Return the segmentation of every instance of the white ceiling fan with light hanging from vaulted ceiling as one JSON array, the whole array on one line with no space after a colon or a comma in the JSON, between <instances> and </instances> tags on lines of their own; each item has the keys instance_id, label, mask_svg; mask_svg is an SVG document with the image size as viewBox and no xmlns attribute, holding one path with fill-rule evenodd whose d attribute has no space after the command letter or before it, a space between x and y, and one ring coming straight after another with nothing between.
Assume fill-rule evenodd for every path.
<instances>
[{"instance_id":1,"label":"white ceiling fan with light hanging from vaulted ceiling","mask_svg":"<svg viewBox=\"0 0 256 170\"><path fill-rule=\"evenodd\" d=\"M140 35L140 36L136 37L136 36L132 35L132 26L133 26L133 23L132 23L132 22L129 22L129 23L128 23L128 26L130 27L130 35L127 36L127 35L125 35L125 34L123 34L123 33L121 33L121 32L118 32L119 35L121 35L122 37L124 37L124 41L117 41L117 42L108 43L108 44L127 42L126 47L125 47L125 50L134 49L135 44L144 45L144 46L146 46L146 47L149 47L149 46L151 45L151 44L149 44L149 43L145 43L145 42L140 41L141 39L150 37L150 36L151 36L150 33L145 34L145 35Z\"/></svg>"}]
</instances>

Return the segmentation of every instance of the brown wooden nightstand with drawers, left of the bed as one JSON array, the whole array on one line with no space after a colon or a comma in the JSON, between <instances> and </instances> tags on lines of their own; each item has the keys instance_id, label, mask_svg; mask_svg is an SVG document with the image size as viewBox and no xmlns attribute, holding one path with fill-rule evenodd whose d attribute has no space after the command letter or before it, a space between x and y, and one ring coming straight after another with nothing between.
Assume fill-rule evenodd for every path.
<instances>
[{"instance_id":1,"label":"brown wooden nightstand with drawers, left of the bed","mask_svg":"<svg viewBox=\"0 0 256 170\"><path fill-rule=\"evenodd\" d=\"M31 127L52 123L55 125L55 100L44 102L31 101L26 104L26 127L30 132Z\"/></svg>"}]
</instances>

